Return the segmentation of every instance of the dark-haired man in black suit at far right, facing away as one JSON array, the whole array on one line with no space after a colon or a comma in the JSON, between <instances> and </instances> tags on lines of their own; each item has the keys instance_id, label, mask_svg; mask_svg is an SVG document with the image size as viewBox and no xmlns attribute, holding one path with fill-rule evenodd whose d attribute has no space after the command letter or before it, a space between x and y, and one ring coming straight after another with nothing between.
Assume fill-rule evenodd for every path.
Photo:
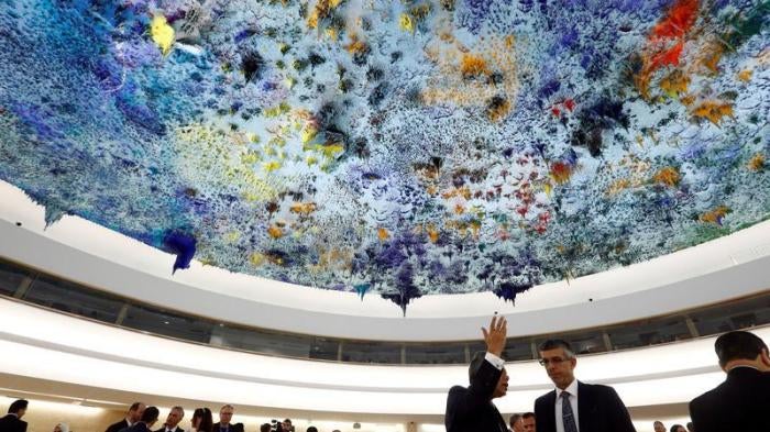
<instances>
[{"instance_id":1,"label":"dark-haired man in black suit at far right, facing away","mask_svg":"<svg viewBox=\"0 0 770 432\"><path fill-rule=\"evenodd\" d=\"M735 331L717 337L714 350L727 378L690 402L695 431L770 431L768 345L754 333Z\"/></svg>"}]
</instances>

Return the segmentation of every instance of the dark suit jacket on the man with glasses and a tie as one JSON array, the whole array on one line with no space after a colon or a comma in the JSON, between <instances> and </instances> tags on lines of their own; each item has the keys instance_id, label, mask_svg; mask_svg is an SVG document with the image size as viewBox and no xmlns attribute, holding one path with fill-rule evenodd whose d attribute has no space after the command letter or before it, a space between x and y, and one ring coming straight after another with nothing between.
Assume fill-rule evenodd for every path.
<instances>
[{"instance_id":1,"label":"dark suit jacket on the man with glasses and a tie","mask_svg":"<svg viewBox=\"0 0 770 432\"><path fill-rule=\"evenodd\" d=\"M556 409L557 390L535 401L535 429L538 432L557 432ZM580 381L578 423L581 432L636 432L631 417L614 388Z\"/></svg>"}]
</instances>

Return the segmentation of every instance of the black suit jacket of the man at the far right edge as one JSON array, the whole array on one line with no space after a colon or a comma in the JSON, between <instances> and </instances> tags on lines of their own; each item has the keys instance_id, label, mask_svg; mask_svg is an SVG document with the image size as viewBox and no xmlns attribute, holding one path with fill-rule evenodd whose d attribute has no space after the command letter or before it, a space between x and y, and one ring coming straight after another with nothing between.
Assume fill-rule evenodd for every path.
<instances>
[{"instance_id":1,"label":"black suit jacket of the man at the far right edge","mask_svg":"<svg viewBox=\"0 0 770 432\"><path fill-rule=\"evenodd\" d=\"M770 431L770 373L736 367L715 389L690 402L697 432Z\"/></svg>"}]
</instances>

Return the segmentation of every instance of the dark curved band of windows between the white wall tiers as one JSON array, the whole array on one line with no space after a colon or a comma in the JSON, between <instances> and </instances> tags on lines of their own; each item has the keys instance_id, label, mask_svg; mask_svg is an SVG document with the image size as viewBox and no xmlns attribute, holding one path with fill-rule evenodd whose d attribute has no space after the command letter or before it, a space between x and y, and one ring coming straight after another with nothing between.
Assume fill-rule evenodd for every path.
<instances>
[{"instance_id":1,"label":"dark curved band of windows between the white wall tiers","mask_svg":"<svg viewBox=\"0 0 770 432\"><path fill-rule=\"evenodd\" d=\"M282 333L165 310L0 259L0 295L125 329L264 355L346 363L465 364L482 341L353 341ZM693 293L696 295L696 293ZM559 335L579 354L683 341L770 323L770 291L698 309ZM512 337L507 361L531 361L546 335Z\"/></svg>"}]
</instances>

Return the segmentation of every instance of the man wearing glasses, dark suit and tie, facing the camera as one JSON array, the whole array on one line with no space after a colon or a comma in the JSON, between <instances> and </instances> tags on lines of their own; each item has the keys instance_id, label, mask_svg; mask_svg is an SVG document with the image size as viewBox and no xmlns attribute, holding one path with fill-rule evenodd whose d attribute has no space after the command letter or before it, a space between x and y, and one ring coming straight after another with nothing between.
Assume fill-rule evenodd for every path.
<instances>
[{"instance_id":1,"label":"man wearing glasses, dark suit and tie, facing the camera","mask_svg":"<svg viewBox=\"0 0 770 432\"><path fill-rule=\"evenodd\" d=\"M535 401L538 432L636 432L615 389L575 379L578 358L566 341L543 342L540 364L557 388Z\"/></svg>"}]
</instances>

